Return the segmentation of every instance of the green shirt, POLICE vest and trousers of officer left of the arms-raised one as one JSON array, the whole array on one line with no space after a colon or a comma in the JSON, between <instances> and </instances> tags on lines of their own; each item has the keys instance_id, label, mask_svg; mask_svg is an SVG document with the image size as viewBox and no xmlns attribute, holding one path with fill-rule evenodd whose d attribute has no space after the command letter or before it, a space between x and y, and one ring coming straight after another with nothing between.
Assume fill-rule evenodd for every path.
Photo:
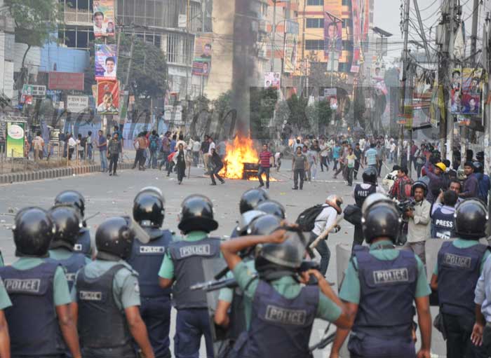
<instances>
[{"instance_id":1,"label":"green shirt, POLICE vest and trousers of officer left of the arms-raised one","mask_svg":"<svg viewBox=\"0 0 491 358\"><path fill-rule=\"evenodd\" d=\"M177 309L174 337L177 358L197 358L202 335L205 336L208 357L213 357L206 293L191 291L189 287L204 281L203 260L217 257L220 257L220 239L196 230L187 233L182 240L172 242L164 256L159 276L175 280L172 292Z\"/></svg>"}]
</instances>

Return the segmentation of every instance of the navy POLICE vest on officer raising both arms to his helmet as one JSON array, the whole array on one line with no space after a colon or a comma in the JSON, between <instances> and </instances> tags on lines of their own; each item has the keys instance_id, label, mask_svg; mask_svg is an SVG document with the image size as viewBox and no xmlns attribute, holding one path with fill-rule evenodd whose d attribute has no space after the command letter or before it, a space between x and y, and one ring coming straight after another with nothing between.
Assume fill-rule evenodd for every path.
<instances>
[{"instance_id":1,"label":"navy POLICE vest on officer raising both arms to his helmet","mask_svg":"<svg viewBox=\"0 0 491 358\"><path fill-rule=\"evenodd\" d=\"M319 301L317 286L302 287L285 298L260 280L253 301L248 332L234 346L237 357L311 357L309 339Z\"/></svg>"}]
</instances>

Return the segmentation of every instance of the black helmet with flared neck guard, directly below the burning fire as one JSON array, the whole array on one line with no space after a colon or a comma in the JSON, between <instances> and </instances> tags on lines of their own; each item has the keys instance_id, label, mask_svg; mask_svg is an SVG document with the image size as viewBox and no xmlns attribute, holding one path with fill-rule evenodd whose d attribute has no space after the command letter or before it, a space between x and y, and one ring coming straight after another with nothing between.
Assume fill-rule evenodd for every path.
<instances>
[{"instance_id":1,"label":"black helmet with flared neck guard, directly below the burning fire","mask_svg":"<svg viewBox=\"0 0 491 358\"><path fill-rule=\"evenodd\" d=\"M180 222L177 226L184 234L199 230L210 233L217 230L218 223L213 219L213 203L203 195L189 195L181 204Z\"/></svg>"}]
</instances>

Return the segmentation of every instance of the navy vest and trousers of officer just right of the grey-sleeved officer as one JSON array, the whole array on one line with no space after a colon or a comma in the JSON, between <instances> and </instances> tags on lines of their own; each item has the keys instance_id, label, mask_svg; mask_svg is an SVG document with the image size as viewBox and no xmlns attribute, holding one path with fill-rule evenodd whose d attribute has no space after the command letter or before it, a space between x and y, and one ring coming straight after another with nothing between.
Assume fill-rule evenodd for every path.
<instances>
[{"instance_id":1,"label":"navy vest and trousers of officer just right of the grey-sleeved officer","mask_svg":"<svg viewBox=\"0 0 491 358\"><path fill-rule=\"evenodd\" d=\"M159 287L159 268L173 235L169 230L146 228L151 235L148 244L135 239L128 263L138 273L140 282L140 315L147 326L156 358L170 357L170 289Z\"/></svg>"}]
</instances>

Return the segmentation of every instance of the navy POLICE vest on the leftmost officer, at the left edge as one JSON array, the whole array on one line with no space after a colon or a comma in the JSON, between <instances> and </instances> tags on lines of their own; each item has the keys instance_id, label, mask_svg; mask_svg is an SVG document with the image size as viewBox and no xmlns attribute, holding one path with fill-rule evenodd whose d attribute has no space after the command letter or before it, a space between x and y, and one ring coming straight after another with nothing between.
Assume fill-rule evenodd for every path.
<instances>
[{"instance_id":1,"label":"navy POLICE vest on the leftmost officer, at the left edge","mask_svg":"<svg viewBox=\"0 0 491 358\"><path fill-rule=\"evenodd\" d=\"M48 259L29 270L0 268L12 301L5 315L13 357L58 357L65 350L54 304L53 282L58 266Z\"/></svg>"}]
</instances>

